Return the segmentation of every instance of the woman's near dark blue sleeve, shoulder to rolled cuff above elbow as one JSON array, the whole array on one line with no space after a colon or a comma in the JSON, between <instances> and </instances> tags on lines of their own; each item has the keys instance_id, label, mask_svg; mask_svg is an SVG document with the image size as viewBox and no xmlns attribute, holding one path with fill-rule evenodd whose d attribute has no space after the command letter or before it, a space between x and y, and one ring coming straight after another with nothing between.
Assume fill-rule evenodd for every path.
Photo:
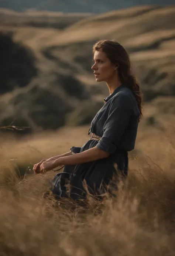
<instances>
[{"instance_id":1,"label":"woman's near dark blue sleeve, shoulder to rolled cuff above elbow","mask_svg":"<svg viewBox=\"0 0 175 256\"><path fill-rule=\"evenodd\" d=\"M119 146L121 137L133 112L132 101L128 93L118 93L110 103L109 114L103 126L103 137L96 145L110 154Z\"/></svg>"}]
</instances>

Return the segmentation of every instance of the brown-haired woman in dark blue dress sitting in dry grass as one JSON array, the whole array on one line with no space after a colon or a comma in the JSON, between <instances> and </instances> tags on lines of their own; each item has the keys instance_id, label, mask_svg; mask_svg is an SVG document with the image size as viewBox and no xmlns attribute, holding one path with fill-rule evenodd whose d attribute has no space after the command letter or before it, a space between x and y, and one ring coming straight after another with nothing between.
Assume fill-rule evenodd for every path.
<instances>
[{"instance_id":1,"label":"brown-haired woman in dark blue dress sitting in dry grass","mask_svg":"<svg viewBox=\"0 0 175 256\"><path fill-rule=\"evenodd\" d=\"M87 189L82 181L91 194L100 196L117 173L127 176L128 151L135 146L142 97L129 56L114 40L98 41L93 54L95 79L106 82L110 95L92 120L90 139L82 147L72 147L66 154L34 165L35 173L64 165L64 171L52 180L51 190L58 198L85 198Z\"/></svg>"}]
</instances>

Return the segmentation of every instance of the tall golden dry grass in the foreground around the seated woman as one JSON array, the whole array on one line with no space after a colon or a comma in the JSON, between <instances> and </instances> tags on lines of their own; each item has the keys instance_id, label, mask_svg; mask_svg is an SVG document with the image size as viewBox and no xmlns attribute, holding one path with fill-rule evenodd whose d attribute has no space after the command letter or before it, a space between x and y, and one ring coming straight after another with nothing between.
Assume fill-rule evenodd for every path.
<instances>
[{"instance_id":1,"label":"tall golden dry grass in the foreground around the seated woman","mask_svg":"<svg viewBox=\"0 0 175 256\"><path fill-rule=\"evenodd\" d=\"M138 134L139 149L141 141L145 151L148 141L151 147L149 135ZM154 146L150 159L131 157L128 180L119 184L117 197L100 203L89 197L87 209L42 198L55 173L20 180L8 165L0 177L0 256L175 255L175 150L171 144L167 157L169 141L163 133L157 136L157 152ZM154 163L151 158L158 153L161 158Z\"/></svg>"}]
</instances>

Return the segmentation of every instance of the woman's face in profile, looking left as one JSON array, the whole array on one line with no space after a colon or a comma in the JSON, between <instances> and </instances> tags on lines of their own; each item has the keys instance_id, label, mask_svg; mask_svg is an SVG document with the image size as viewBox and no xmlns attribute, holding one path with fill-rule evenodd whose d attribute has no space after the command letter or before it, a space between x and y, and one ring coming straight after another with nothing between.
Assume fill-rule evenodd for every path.
<instances>
[{"instance_id":1,"label":"woman's face in profile, looking left","mask_svg":"<svg viewBox=\"0 0 175 256\"><path fill-rule=\"evenodd\" d=\"M107 58L106 53L103 51L95 51L95 62L92 66L92 70L95 74L96 82L110 81L116 73L116 65L112 64L110 59Z\"/></svg>"}]
</instances>

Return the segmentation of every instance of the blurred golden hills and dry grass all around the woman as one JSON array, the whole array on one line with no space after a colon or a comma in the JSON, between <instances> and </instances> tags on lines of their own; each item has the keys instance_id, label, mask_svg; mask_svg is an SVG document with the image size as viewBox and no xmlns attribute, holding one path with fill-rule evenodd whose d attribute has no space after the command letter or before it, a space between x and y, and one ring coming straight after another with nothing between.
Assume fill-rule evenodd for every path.
<instances>
[{"instance_id":1,"label":"blurred golden hills and dry grass all around the woman","mask_svg":"<svg viewBox=\"0 0 175 256\"><path fill-rule=\"evenodd\" d=\"M175 255L173 3L0 0L1 256ZM71 212L42 198L56 173L32 168L89 140L109 95L91 71L100 39L115 39L130 54L144 117L126 186L114 200L88 196L87 209Z\"/></svg>"}]
</instances>

